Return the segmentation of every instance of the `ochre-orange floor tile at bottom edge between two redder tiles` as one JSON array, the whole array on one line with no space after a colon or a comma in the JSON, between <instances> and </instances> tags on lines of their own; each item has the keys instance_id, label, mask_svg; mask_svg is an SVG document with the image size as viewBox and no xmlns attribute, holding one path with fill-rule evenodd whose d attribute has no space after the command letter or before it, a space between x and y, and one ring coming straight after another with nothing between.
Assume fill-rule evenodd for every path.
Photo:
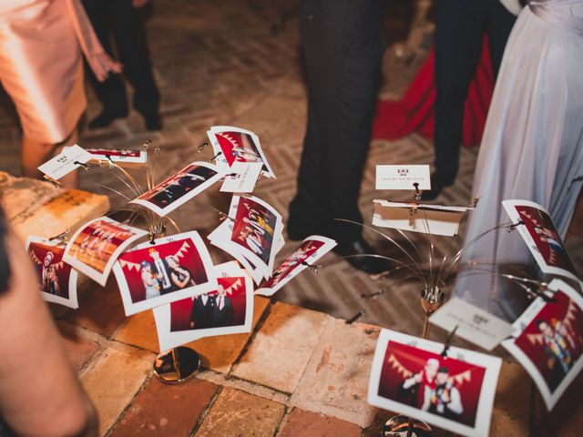
<instances>
[{"instance_id":1,"label":"ochre-orange floor tile at bottom edge between two redder tiles","mask_svg":"<svg viewBox=\"0 0 583 437\"><path fill-rule=\"evenodd\" d=\"M196 437L268 437L274 435L285 407L225 387L201 423Z\"/></svg>"}]
</instances>

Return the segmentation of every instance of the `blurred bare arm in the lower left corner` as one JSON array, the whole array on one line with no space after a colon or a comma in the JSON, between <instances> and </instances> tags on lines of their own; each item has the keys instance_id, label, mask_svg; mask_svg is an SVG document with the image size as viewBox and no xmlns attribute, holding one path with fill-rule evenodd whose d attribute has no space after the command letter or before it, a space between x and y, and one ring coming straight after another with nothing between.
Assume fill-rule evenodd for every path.
<instances>
[{"instance_id":1,"label":"blurred bare arm in the lower left corner","mask_svg":"<svg viewBox=\"0 0 583 437\"><path fill-rule=\"evenodd\" d=\"M97 415L66 360L22 242L4 241L11 266L0 293L0 415L23 436L97 436Z\"/></svg>"}]
</instances>

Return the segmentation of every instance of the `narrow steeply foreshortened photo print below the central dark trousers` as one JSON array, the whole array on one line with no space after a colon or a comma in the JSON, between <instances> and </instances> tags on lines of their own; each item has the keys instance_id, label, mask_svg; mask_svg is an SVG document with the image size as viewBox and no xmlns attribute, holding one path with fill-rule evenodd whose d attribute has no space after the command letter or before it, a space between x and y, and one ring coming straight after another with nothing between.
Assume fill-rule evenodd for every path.
<instances>
[{"instance_id":1,"label":"narrow steeply foreshortened photo print below the central dark trousers","mask_svg":"<svg viewBox=\"0 0 583 437\"><path fill-rule=\"evenodd\" d=\"M255 290L255 294L272 296L303 270L308 269L308 265L313 265L335 246L336 241L319 235L312 235L304 239L300 247L295 249L292 255L284 259L280 267L275 269L271 278L258 290Z\"/></svg>"}]
</instances>

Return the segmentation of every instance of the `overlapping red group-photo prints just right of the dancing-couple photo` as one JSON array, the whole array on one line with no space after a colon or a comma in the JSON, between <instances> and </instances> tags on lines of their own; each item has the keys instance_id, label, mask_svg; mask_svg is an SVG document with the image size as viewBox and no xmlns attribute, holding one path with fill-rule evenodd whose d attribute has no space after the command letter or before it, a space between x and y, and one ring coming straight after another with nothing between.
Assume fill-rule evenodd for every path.
<instances>
[{"instance_id":1,"label":"overlapping red group-photo prints just right of the dancing-couple photo","mask_svg":"<svg viewBox=\"0 0 583 437\"><path fill-rule=\"evenodd\" d=\"M229 217L210 233L210 242L235 259L244 257L264 278L270 277L282 239L281 215L260 198L233 196Z\"/></svg>"}]
</instances>

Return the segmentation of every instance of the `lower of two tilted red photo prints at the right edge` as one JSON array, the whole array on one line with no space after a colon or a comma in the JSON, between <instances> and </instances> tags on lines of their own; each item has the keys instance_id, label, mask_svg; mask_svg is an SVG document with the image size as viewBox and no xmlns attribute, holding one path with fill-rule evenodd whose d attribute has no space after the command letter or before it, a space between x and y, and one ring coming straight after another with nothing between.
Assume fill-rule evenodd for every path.
<instances>
[{"instance_id":1,"label":"lower of two tilted red photo prints at the right edge","mask_svg":"<svg viewBox=\"0 0 583 437\"><path fill-rule=\"evenodd\" d=\"M551 411L583 369L583 297L560 279L513 323L513 338L502 342L537 384Z\"/></svg>"}]
</instances>

